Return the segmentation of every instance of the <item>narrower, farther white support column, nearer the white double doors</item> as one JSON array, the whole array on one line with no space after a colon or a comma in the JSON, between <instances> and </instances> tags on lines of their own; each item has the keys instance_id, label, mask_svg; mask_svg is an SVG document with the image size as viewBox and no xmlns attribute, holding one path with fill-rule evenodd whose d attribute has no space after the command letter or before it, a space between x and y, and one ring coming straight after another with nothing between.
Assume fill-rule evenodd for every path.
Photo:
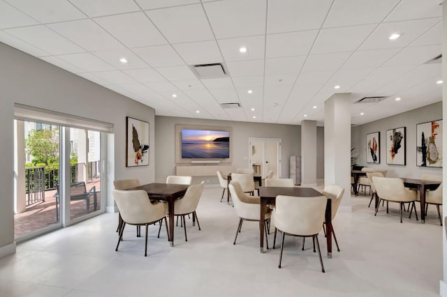
<instances>
[{"instance_id":1,"label":"narrower, farther white support column, nearer the white double doors","mask_svg":"<svg viewBox=\"0 0 447 297\"><path fill-rule=\"evenodd\" d=\"M301 122L301 185L316 186L316 121Z\"/></svg>"}]
</instances>

